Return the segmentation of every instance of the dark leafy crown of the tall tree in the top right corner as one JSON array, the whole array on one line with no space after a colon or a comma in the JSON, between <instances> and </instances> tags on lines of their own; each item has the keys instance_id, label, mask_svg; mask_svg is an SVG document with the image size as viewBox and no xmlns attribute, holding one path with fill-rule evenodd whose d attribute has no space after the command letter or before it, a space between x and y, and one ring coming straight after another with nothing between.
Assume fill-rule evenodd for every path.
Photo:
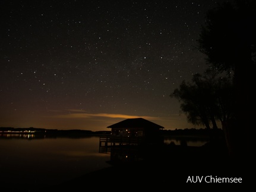
<instances>
[{"instance_id":1,"label":"dark leafy crown of the tall tree in the top right corner","mask_svg":"<svg viewBox=\"0 0 256 192\"><path fill-rule=\"evenodd\" d=\"M240 66L255 64L256 2L227 2L210 9L201 28L199 49L207 61L219 71L244 69Z\"/></svg>"}]
</instances>

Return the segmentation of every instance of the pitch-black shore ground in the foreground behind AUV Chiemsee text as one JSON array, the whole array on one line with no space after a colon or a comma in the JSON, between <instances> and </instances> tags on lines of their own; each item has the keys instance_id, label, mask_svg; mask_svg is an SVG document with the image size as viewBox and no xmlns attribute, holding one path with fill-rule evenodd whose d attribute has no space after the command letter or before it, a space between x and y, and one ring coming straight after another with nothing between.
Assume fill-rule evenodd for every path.
<instances>
[{"instance_id":1,"label":"pitch-black shore ground in the foreground behind AUV Chiemsee text","mask_svg":"<svg viewBox=\"0 0 256 192\"><path fill-rule=\"evenodd\" d=\"M165 146L150 151L143 161L115 164L66 183L27 191L246 191L254 184L251 159L230 158L225 148L216 143L201 147ZM206 177L211 183L206 183ZM242 183L218 183L217 178L242 178Z\"/></svg>"}]
</instances>

